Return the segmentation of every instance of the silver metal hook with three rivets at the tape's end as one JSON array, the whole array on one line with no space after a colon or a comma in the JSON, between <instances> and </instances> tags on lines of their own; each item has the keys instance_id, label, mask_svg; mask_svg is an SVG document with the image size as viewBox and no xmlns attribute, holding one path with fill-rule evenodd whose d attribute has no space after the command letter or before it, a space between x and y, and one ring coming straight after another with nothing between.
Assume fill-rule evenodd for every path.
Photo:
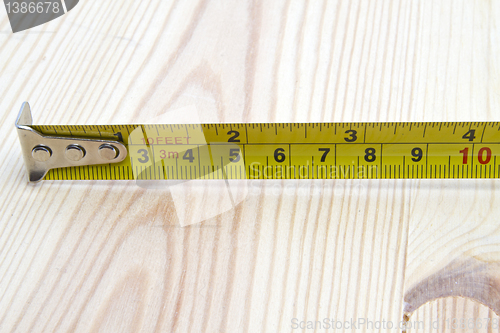
<instances>
[{"instance_id":1,"label":"silver metal hook with three rivets at the tape's end","mask_svg":"<svg viewBox=\"0 0 500 333\"><path fill-rule=\"evenodd\" d=\"M24 102L16 120L28 179L37 182L54 168L118 163L127 148L118 141L43 135L31 128L31 109Z\"/></svg>"}]
</instances>

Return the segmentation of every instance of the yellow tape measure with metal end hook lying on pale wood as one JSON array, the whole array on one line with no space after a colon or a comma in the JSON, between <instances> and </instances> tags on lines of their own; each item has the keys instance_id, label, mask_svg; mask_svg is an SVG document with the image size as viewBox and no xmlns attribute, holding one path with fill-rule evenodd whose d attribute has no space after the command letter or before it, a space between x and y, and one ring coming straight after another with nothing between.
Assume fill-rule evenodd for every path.
<instances>
[{"instance_id":1,"label":"yellow tape measure with metal end hook lying on pale wood","mask_svg":"<svg viewBox=\"0 0 500 333\"><path fill-rule=\"evenodd\" d=\"M499 122L16 126L31 181L500 176Z\"/></svg>"}]
</instances>

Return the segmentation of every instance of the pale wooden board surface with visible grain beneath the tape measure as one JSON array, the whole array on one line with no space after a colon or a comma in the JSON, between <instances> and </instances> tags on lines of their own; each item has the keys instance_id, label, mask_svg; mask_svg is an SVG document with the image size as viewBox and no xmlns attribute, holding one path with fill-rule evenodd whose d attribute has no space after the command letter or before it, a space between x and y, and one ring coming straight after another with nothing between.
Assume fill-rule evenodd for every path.
<instances>
[{"instance_id":1,"label":"pale wooden board surface with visible grain beneath the tape measure","mask_svg":"<svg viewBox=\"0 0 500 333\"><path fill-rule=\"evenodd\" d=\"M14 129L25 100L36 124L499 120L498 22L486 0L82 0L12 34L2 8L0 331L290 332L406 311L426 324L410 332L499 332L498 181L260 181L227 206L206 184L28 184Z\"/></svg>"}]
</instances>

